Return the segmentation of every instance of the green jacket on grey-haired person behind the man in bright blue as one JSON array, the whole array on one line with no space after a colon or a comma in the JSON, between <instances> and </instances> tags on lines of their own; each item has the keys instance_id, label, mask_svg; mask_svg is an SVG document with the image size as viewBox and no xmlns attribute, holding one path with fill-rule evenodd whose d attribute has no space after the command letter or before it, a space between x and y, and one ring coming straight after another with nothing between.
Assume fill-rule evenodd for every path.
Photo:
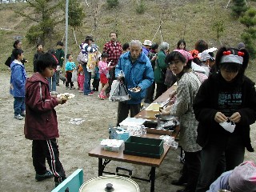
<instances>
[{"instance_id":1,"label":"green jacket on grey-haired person behind the man in bright blue","mask_svg":"<svg viewBox=\"0 0 256 192\"><path fill-rule=\"evenodd\" d=\"M154 66L154 79L157 83L164 83L166 79L167 65L165 62L166 54L163 50L159 50L158 58Z\"/></svg>"}]
</instances>

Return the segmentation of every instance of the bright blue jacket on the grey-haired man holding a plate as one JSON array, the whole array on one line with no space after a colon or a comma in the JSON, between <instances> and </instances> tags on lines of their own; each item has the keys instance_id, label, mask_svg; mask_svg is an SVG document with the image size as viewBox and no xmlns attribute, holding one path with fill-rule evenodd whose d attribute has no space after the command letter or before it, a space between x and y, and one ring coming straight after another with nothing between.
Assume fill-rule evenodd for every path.
<instances>
[{"instance_id":1,"label":"bright blue jacket on the grey-haired man holding a plate","mask_svg":"<svg viewBox=\"0 0 256 192\"><path fill-rule=\"evenodd\" d=\"M138 104L142 102L142 98L146 96L146 88L154 82L154 73L150 59L143 52L138 56L136 62L131 63L130 51L122 54L115 68L115 77L118 77L120 70L125 74L126 89L136 86L142 88L138 93L130 92L131 99L127 104Z\"/></svg>"}]
</instances>

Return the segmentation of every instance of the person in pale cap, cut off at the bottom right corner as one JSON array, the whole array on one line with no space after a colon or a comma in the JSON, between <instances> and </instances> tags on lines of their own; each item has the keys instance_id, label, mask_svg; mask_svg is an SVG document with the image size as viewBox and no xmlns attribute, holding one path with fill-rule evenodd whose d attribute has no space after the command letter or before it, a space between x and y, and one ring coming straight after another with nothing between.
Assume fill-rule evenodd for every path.
<instances>
[{"instance_id":1,"label":"person in pale cap, cut off at the bottom right corner","mask_svg":"<svg viewBox=\"0 0 256 192\"><path fill-rule=\"evenodd\" d=\"M256 191L256 165L252 161L242 162L234 170L224 172L206 192L229 190L235 192Z\"/></svg>"}]
</instances>

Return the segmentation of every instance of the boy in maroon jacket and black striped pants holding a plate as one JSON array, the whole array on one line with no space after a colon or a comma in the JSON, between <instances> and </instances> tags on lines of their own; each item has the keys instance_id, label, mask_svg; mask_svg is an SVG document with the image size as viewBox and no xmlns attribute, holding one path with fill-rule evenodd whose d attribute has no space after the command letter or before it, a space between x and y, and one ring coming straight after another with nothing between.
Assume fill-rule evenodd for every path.
<instances>
[{"instance_id":1,"label":"boy in maroon jacket and black striped pants holding a plate","mask_svg":"<svg viewBox=\"0 0 256 192\"><path fill-rule=\"evenodd\" d=\"M37 72L26 81L25 138L32 140L32 158L36 181L54 176L55 186L66 179L59 160L57 138L58 121L55 106L66 100L50 95L47 78L54 74L57 61L52 54L42 54L36 65ZM46 159L50 170L46 170Z\"/></svg>"}]
</instances>

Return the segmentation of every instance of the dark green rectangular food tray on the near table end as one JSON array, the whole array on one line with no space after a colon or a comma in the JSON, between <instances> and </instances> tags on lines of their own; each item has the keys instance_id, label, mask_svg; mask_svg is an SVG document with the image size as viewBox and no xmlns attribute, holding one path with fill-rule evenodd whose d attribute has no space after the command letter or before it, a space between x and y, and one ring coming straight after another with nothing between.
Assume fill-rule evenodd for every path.
<instances>
[{"instance_id":1,"label":"dark green rectangular food tray on the near table end","mask_svg":"<svg viewBox=\"0 0 256 192\"><path fill-rule=\"evenodd\" d=\"M130 136L125 142L123 154L131 154L147 158L161 158L163 140L157 138L141 138Z\"/></svg>"}]
</instances>

